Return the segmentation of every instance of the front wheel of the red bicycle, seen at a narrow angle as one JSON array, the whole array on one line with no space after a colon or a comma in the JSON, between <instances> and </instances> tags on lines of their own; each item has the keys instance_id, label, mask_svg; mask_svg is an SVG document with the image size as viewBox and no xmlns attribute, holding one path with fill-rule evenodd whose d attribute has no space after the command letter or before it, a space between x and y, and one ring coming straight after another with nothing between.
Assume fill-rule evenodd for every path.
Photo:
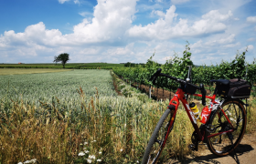
<instances>
[{"instance_id":1,"label":"front wheel of the red bicycle, seen at a narrow angle","mask_svg":"<svg viewBox=\"0 0 256 164\"><path fill-rule=\"evenodd\" d=\"M174 127L175 121L173 122L173 125L170 128L170 130L168 131L168 128L170 126L169 124L170 124L171 118L173 116L173 111L174 110L171 110L169 108L166 109L165 113L159 119L159 121L155 127L155 130L154 130L154 132L147 144L147 147L144 151L144 157L143 157L143 161L142 161L143 164L157 163L162 151L165 148L165 146L163 147L163 143L164 143L164 141L166 142L169 133L171 132L171 130ZM161 128L163 128L163 129L161 129ZM158 136L160 138L158 138ZM165 140L165 138L166 138L166 140ZM155 155L154 155L154 153L155 153Z\"/></svg>"}]
</instances>

